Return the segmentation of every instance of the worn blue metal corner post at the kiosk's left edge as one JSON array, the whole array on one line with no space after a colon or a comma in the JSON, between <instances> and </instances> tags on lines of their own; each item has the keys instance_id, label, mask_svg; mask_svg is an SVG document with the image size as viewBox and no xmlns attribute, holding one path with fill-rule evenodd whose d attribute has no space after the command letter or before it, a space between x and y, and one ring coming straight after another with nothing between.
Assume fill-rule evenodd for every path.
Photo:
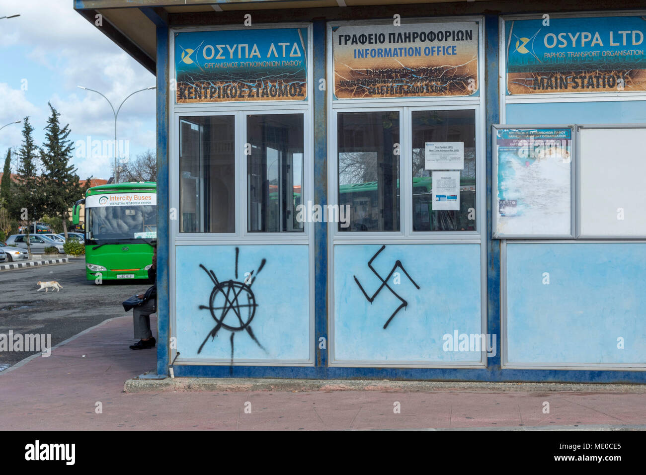
<instances>
[{"instance_id":1,"label":"worn blue metal corner post at the kiosk's left edge","mask_svg":"<svg viewBox=\"0 0 646 475\"><path fill-rule=\"evenodd\" d=\"M169 366L169 30L157 26L157 374Z\"/></svg>"}]
</instances>

